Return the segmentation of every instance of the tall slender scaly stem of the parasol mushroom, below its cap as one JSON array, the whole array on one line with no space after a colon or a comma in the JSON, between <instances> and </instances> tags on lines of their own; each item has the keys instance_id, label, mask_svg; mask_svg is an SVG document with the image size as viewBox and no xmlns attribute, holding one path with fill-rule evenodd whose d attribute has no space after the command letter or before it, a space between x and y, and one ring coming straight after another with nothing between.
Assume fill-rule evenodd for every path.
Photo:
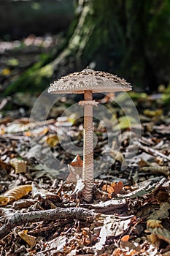
<instances>
[{"instance_id":1,"label":"tall slender scaly stem of the parasol mushroom, below its cap","mask_svg":"<svg viewBox=\"0 0 170 256\"><path fill-rule=\"evenodd\" d=\"M85 91L85 101L92 101L92 91ZM83 166L82 181L85 183L85 189L82 196L86 201L92 199L93 189L93 105L84 105L84 146L83 146Z\"/></svg>"}]
</instances>

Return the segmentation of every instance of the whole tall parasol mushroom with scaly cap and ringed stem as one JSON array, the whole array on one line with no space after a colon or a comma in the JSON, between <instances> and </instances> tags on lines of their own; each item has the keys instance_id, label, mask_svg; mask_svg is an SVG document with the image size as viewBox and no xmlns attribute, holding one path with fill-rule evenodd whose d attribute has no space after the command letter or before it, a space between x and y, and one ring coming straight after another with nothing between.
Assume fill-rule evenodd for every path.
<instances>
[{"instance_id":1,"label":"whole tall parasol mushroom with scaly cap and ringed stem","mask_svg":"<svg viewBox=\"0 0 170 256\"><path fill-rule=\"evenodd\" d=\"M88 68L63 76L48 89L52 94L84 94L84 100L79 102L84 106L82 181L85 188L82 195L88 202L93 196L93 106L98 104L93 100L93 93L130 90L131 85L117 75Z\"/></svg>"}]
</instances>

